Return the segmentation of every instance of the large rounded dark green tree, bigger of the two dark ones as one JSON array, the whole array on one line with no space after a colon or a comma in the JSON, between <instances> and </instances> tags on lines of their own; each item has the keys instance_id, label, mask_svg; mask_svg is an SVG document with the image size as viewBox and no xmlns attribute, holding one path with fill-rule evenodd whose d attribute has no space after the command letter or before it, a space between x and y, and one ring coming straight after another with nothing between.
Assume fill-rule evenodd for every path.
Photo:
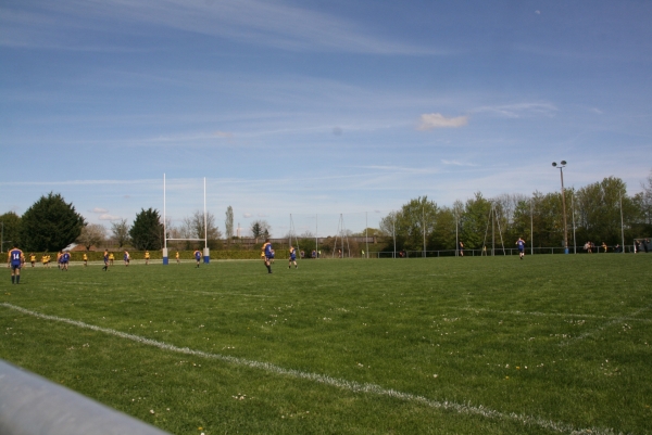
<instances>
[{"instance_id":1,"label":"large rounded dark green tree, bigger of the two dark ones","mask_svg":"<svg viewBox=\"0 0 652 435\"><path fill-rule=\"evenodd\" d=\"M21 242L25 251L59 251L77 240L84 225L72 203L50 192L21 218Z\"/></svg>"}]
</instances>

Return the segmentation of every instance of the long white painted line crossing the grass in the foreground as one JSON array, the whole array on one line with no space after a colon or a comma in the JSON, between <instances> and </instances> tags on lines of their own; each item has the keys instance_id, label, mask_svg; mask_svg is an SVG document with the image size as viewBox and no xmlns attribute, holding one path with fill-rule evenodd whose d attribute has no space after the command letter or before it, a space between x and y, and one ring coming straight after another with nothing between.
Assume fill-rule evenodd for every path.
<instances>
[{"instance_id":1,"label":"long white painted line crossing the grass in the foreground","mask_svg":"<svg viewBox=\"0 0 652 435\"><path fill-rule=\"evenodd\" d=\"M228 362L228 363L231 363L235 366L249 367L252 369L259 369L259 370L263 370L263 371L266 371L269 373L280 374L284 376L301 379L301 380L309 380L309 381L317 382L319 384L325 384L325 385L330 385L330 386L335 386L338 388L347 389L352 393L367 393L367 394L374 394L377 396L388 396L388 397L392 397L392 398L396 398L399 400L411 401L411 402L424 405L424 406L435 408L435 409L442 409L446 411L453 411L453 412L459 412L459 413L463 413L463 414L472 414L472 415L481 415L485 418L497 419L497 420L511 420L511 421L516 421L516 422L523 423L525 425L539 426L539 427L542 427L542 428L546 428L546 430L549 430L552 432L559 432L559 433L593 434L593 435L614 435L615 434L614 430L612 430L612 428L597 428L597 427L577 428L568 423L555 422L555 421L546 420L546 419L539 418L539 417L517 414L514 412L510 412L510 413L500 412L500 411L497 411L493 409L485 408L481 405L472 406L471 404L456 404L456 402L448 401L448 400L444 400L444 401L431 400L424 396L416 396L416 395L410 394L410 393L402 393L402 392L398 392L396 389L388 389L388 388L384 388L380 385L376 385L376 384L367 384L367 383L359 383L355 381L347 381L343 379L331 378L331 376L318 374L318 373L302 372L300 370L294 370L294 369L284 369L283 367L272 364L269 362L254 361L254 360L244 359L244 358L231 357L228 355L210 354L210 353L205 353L202 350L190 349L188 347L177 347L172 344L159 342L159 341L151 340L151 338L146 338L146 337L142 337L139 335L127 334L127 333L112 330L109 328L96 327L93 324L88 324L88 323L84 323L84 322L80 322L77 320L61 318L58 316L43 315L40 312L28 310L26 308L11 305L8 303L2 303L0 305L2 305L3 307L7 307L7 308L11 308L13 310L20 311L24 315L37 317L39 319L52 320L52 321L57 321L57 322L72 324L72 325L78 327L78 328L103 332L103 333L106 333L110 335L130 340L130 341L141 343L141 344L145 344L148 346L154 346L154 347L158 347L163 350L170 350L170 351L175 351L175 353L185 354L185 355L192 355L192 356L208 358L208 359L215 359L215 360L225 361L225 362Z\"/></svg>"}]
</instances>

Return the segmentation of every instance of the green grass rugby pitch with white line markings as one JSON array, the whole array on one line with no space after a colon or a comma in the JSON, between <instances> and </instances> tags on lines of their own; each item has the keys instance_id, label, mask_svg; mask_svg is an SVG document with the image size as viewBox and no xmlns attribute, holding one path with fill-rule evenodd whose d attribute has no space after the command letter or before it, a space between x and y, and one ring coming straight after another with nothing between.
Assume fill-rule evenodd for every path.
<instances>
[{"instance_id":1,"label":"green grass rugby pitch with white line markings","mask_svg":"<svg viewBox=\"0 0 652 435\"><path fill-rule=\"evenodd\" d=\"M645 434L651 261L26 268L0 357L175 434Z\"/></svg>"}]
</instances>

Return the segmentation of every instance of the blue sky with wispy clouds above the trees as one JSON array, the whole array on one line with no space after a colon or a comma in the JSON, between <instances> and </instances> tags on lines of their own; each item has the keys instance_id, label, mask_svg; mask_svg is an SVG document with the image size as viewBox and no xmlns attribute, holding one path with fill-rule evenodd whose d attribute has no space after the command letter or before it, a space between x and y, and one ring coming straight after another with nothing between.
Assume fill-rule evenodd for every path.
<instances>
[{"instance_id":1,"label":"blue sky with wispy clouds above the trees","mask_svg":"<svg viewBox=\"0 0 652 435\"><path fill-rule=\"evenodd\" d=\"M361 231L652 169L652 2L1 0L0 214Z\"/></svg>"}]
</instances>

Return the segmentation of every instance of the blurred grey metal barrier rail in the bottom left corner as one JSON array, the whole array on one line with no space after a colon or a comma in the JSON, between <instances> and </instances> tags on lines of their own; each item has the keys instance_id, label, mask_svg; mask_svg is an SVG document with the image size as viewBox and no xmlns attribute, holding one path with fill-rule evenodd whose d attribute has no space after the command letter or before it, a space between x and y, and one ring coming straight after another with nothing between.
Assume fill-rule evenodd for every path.
<instances>
[{"instance_id":1,"label":"blurred grey metal barrier rail in the bottom left corner","mask_svg":"<svg viewBox=\"0 0 652 435\"><path fill-rule=\"evenodd\" d=\"M0 360L2 435L168 435Z\"/></svg>"}]
</instances>

